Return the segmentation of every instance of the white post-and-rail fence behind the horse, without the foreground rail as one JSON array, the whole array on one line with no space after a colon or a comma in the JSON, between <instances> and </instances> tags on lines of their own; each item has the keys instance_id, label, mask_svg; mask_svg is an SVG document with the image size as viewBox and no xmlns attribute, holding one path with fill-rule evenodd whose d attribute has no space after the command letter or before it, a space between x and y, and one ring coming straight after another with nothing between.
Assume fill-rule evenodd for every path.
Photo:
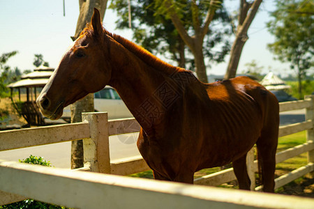
<instances>
[{"instance_id":1,"label":"white post-and-rail fence behind the horse, without the foreground rail","mask_svg":"<svg viewBox=\"0 0 314 209\"><path fill-rule=\"evenodd\" d=\"M289 183L299 176L309 173L313 177L314 171L314 129L313 129L313 95L306 96L305 100L295 102L283 102L280 104L280 111L290 111L294 109L306 108L306 121L292 125L280 127L279 135L283 137L288 134L306 130L307 142L305 144L284 150L277 153L276 161L282 162L300 155L308 153L308 164L291 173L287 173L276 179L276 188ZM53 125L47 127L36 127L25 130L10 130L0 132L0 151L11 150L16 148L24 148L29 146L38 146L43 144L53 144L63 141L73 141L84 139L84 168L77 169L78 171L94 171L99 173L112 173L119 175L128 175L147 171L149 167L142 157L129 157L122 160L110 161L109 152L109 136L115 134L126 134L138 132L140 125L133 118L124 120L108 121L106 113L89 113L82 115L82 123L74 123L67 125ZM101 127L101 128L100 128ZM15 139L19 139L16 144ZM257 171L257 162L254 161L253 150L248 154L248 173L251 182L255 182L254 172ZM73 172L73 171L72 171ZM236 179L233 169L226 169L217 173L213 173L201 178L195 179L195 184L202 185L220 185ZM1 181L0 176L0 181ZM252 189L254 189L253 185ZM1 187L2 188L2 187ZM259 190L261 187L256 187ZM13 192L13 191L8 191ZM14 193L14 192L13 192ZM23 196L0 192L0 204L9 203L15 200L20 200ZM6 195L5 198L3 196ZM10 196L10 198L8 198ZM6 199L6 200L3 200Z\"/></svg>"}]
</instances>

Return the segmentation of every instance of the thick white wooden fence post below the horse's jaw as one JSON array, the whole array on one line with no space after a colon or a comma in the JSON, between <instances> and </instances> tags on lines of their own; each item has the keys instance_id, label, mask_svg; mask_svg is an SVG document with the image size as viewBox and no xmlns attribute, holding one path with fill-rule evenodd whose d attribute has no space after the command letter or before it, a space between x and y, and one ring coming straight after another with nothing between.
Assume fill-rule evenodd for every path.
<instances>
[{"instance_id":1,"label":"thick white wooden fence post below the horse's jaw","mask_svg":"<svg viewBox=\"0 0 314 209\"><path fill-rule=\"evenodd\" d=\"M89 122L90 139L83 140L84 163L91 171L110 173L108 115L105 113L83 113L82 121Z\"/></svg>"}]
</instances>

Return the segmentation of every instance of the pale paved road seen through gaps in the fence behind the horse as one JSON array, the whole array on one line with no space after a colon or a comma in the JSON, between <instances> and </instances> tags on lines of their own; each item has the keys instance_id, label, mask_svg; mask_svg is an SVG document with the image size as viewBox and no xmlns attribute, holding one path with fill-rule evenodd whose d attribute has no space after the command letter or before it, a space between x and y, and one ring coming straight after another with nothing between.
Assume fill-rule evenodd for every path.
<instances>
[{"instance_id":1,"label":"pale paved road seen through gaps in the fence behind the horse","mask_svg":"<svg viewBox=\"0 0 314 209\"><path fill-rule=\"evenodd\" d=\"M287 111L281 114L281 125L299 123L304 121L304 110ZM138 134L122 134L110 137L111 160L140 155L137 150L136 140ZM44 157L52 163L52 166L59 168L70 168L70 142L36 146L33 148L22 148L0 152L1 160L25 159L29 155Z\"/></svg>"}]
</instances>

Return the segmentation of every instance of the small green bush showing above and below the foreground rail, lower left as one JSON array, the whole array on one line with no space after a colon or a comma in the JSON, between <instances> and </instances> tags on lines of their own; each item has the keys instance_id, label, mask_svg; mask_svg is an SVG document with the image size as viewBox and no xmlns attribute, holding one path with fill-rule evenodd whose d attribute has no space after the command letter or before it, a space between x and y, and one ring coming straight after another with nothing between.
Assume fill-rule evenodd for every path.
<instances>
[{"instance_id":1,"label":"small green bush showing above and below the foreground rail, lower left","mask_svg":"<svg viewBox=\"0 0 314 209\"><path fill-rule=\"evenodd\" d=\"M20 162L24 162L24 163L29 163L29 164L40 164L43 166L47 166L50 167L50 162L46 161L45 159L43 159L43 157L36 157L36 156L29 156L27 157L27 159L25 160L19 160ZM33 199L26 199L24 201L20 201L20 202L16 202L16 203L10 203L8 205L5 206L0 206L0 209L33 209L33 208L38 208L38 209L65 209L65 207L63 206L54 206L51 205L49 203L43 203L40 201L36 201Z\"/></svg>"}]
</instances>

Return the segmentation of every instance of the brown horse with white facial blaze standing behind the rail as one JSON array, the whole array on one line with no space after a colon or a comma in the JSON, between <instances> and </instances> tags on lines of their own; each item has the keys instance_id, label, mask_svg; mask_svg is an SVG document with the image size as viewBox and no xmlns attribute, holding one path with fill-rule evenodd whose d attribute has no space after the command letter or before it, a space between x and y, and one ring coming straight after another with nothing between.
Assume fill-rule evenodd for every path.
<instances>
[{"instance_id":1,"label":"brown horse with white facial blaze standing behind the rail","mask_svg":"<svg viewBox=\"0 0 314 209\"><path fill-rule=\"evenodd\" d=\"M160 180L193 183L200 169L233 163L241 189L257 144L264 191L274 192L278 101L248 77L204 84L103 29L98 10L37 99L57 119L63 107L109 84L142 126L137 146Z\"/></svg>"}]
</instances>

